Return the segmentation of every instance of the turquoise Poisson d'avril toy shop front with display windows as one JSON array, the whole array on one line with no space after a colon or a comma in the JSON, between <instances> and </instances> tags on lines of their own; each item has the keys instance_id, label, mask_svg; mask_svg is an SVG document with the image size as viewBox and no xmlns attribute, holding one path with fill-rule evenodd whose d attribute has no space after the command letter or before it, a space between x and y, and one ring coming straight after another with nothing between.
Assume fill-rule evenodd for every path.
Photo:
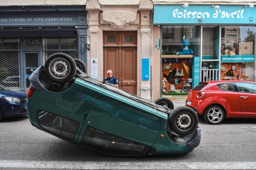
<instances>
[{"instance_id":1,"label":"turquoise Poisson d'avril toy shop front with display windows","mask_svg":"<svg viewBox=\"0 0 256 170\"><path fill-rule=\"evenodd\" d=\"M184 101L200 81L255 81L254 15L252 5L154 4L161 96Z\"/></svg>"}]
</instances>

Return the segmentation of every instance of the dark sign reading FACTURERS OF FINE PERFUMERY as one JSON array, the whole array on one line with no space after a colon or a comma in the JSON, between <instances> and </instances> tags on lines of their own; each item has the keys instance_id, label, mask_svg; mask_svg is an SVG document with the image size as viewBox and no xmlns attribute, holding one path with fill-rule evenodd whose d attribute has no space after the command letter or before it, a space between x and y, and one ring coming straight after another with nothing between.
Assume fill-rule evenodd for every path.
<instances>
[{"instance_id":1,"label":"dark sign reading FACTURERS OF FINE PERFUMERY","mask_svg":"<svg viewBox=\"0 0 256 170\"><path fill-rule=\"evenodd\" d=\"M76 12L6 12L0 16L0 25L77 24Z\"/></svg>"}]
</instances>

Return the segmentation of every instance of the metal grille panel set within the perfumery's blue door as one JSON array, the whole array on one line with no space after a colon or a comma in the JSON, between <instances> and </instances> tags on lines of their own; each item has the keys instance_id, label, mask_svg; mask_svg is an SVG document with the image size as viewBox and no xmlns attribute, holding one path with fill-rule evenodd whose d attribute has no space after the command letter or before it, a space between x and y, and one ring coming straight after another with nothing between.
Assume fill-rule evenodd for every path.
<instances>
[{"instance_id":1,"label":"metal grille panel set within the perfumery's blue door","mask_svg":"<svg viewBox=\"0 0 256 170\"><path fill-rule=\"evenodd\" d=\"M25 87L30 86L29 76L38 67L38 53L25 53Z\"/></svg>"}]
</instances>

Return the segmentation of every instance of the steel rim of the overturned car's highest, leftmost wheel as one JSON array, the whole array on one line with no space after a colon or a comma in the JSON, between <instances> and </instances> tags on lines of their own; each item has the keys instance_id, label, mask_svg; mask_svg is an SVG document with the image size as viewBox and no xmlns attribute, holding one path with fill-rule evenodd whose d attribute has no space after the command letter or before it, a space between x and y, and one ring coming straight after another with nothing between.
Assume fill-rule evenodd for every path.
<instances>
[{"instance_id":1,"label":"steel rim of the overturned car's highest, leftmost wheel","mask_svg":"<svg viewBox=\"0 0 256 170\"><path fill-rule=\"evenodd\" d=\"M64 79L69 74L70 65L64 58L55 58L49 65L49 71L52 77L56 79Z\"/></svg>"}]
</instances>

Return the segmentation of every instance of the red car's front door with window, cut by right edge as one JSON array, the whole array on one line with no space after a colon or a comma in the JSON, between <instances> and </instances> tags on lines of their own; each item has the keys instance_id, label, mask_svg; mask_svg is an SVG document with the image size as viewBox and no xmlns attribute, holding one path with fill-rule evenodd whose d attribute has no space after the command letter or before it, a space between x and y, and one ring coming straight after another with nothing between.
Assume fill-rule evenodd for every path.
<instances>
[{"instance_id":1,"label":"red car's front door with window, cut by right edge","mask_svg":"<svg viewBox=\"0 0 256 170\"><path fill-rule=\"evenodd\" d=\"M242 112L246 116L256 117L256 84L249 82L236 82L236 86L239 89L239 101Z\"/></svg>"}]
</instances>

